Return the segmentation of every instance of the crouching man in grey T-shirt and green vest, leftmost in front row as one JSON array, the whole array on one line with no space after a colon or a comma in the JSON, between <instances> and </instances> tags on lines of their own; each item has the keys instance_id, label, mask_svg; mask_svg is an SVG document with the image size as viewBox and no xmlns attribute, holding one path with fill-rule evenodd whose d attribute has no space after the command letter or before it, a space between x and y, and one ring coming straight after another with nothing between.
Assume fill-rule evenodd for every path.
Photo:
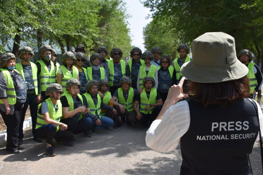
<instances>
[{"instance_id":1,"label":"crouching man in grey T-shirt and green vest, leftmost in front row","mask_svg":"<svg viewBox=\"0 0 263 175\"><path fill-rule=\"evenodd\" d=\"M38 105L36 135L44 139L47 144L45 152L51 157L56 155L52 148L53 139L65 143L74 139L74 134L67 130L68 126L60 122L62 104L59 99L62 93L62 86L52 83L45 91L49 98Z\"/></svg>"}]
</instances>

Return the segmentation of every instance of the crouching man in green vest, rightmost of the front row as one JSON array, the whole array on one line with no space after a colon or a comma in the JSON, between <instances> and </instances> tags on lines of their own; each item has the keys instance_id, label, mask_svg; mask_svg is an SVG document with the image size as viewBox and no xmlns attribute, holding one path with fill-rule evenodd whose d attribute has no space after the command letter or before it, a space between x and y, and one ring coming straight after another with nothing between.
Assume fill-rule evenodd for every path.
<instances>
[{"instance_id":1,"label":"crouching man in green vest, rightmost of the front row","mask_svg":"<svg viewBox=\"0 0 263 175\"><path fill-rule=\"evenodd\" d=\"M137 119L140 120L144 128L148 128L155 120L163 106L163 100L160 93L153 88L155 85L153 77L146 76L143 79L143 92L138 95L133 104L137 114ZM140 110L137 105L140 103Z\"/></svg>"}]
</instances>

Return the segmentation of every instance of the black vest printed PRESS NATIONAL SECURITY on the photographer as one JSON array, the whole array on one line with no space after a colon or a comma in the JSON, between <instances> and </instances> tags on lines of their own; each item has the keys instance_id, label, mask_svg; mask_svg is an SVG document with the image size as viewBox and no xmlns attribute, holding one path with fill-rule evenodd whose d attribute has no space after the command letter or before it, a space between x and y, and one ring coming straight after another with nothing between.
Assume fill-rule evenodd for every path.
<instances>
[{"instance_id":1,"label":"black vest printed PRESS NATIONAL SECURITY on the photographer","mask_svg":"<svg viewBox=\"0 0 263 175\"><path fill-rule=\"evenodd\" d=\"M247 99L232 105L187 100L190 126L181 137L180 174L251 174L248 157L259 132L254 105Z\"/></svg>"}]
</instances>

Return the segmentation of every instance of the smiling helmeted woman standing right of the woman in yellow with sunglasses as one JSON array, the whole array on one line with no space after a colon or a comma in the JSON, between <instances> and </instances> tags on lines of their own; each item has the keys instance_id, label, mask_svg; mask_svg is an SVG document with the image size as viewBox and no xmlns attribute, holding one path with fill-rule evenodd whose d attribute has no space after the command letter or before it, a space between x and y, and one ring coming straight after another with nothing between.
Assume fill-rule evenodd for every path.
<instances>
[{"instance_id":1,"label":"smiling helmeted woman standing right of the woman in yellow with sunglasses","mask_svg":"<svg viewBox=\"0 0 263 175\"><path fill-rule=\"evenodd\" d=\"M107 79L106 71L100 66L101 56L98 53L93 53L90 56L91 67L87 68L88 79L100 81L100 79Z\"/></svg>"}]
</instances>

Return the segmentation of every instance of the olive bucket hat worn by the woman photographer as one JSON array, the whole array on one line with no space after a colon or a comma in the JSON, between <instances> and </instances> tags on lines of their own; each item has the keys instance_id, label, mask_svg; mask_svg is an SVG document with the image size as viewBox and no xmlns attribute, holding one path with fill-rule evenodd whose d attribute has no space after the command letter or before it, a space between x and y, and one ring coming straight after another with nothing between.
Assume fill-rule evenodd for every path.
<instances>
[{"instance_id":1,"label":"olive bucket hat worn by the woman photographer","mask_svg":"<svg viewBox=\"0 0 263 175\"><path fill-rule=\"evenodd\" d=\"M242 78L248 68L236 57L235 39L223 32L205 33L192 42L192 60L181 67L184 77L198 83Z\"/></svg>"}]
</instances>

